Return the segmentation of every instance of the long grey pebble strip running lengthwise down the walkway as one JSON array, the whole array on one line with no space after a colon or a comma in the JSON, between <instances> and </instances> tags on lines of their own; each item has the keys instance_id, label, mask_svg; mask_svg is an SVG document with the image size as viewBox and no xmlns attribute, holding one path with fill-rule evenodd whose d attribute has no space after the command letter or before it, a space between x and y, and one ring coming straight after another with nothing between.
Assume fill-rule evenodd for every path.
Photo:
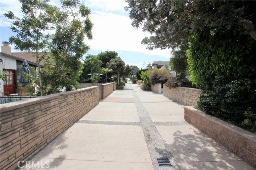
<instances>
[{"instance_id":1,"label":"long grey pebble strip running lengthwise down the walkway","mask_svg":"<svg viewBox=\"0 0 256 170\"><path fill-rule=\"evenodd\" d=\"M132 86L130 85L130 87ZM154 122L152 122L152 120L150 119L148 112L146 111L145 107L140 101L140 98L138 98L134 90L132 90L132 95L134 97L134 102L136 104L138 115L140 117L141 126L144 132L146 143L148 145L148 151L150 153L154 170L180 169L178 167L177 162L174 160L174 157L172 156L170 149L162 139L160 133L155 127ZM173 167L159 167L156 158L162 157L169 158Z\"/></svg>"}]
</instances>

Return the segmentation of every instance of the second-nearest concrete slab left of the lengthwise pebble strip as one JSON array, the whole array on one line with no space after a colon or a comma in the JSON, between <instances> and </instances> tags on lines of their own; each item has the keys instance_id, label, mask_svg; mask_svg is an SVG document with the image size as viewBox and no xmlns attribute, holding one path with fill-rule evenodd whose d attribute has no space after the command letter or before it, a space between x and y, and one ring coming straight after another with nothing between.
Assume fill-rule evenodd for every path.
<instances>
[{"instance_id":1,"label":"second-nearest concrete slab left of the lengthwise pebble strip","mask_svg":"<svg viewBox=\"0 0 256 170\"><path fill-rule=\"evenodd\" d=\"M134 103L100 102L81 120L140 122Z\"/></svg>"}]
</instances>

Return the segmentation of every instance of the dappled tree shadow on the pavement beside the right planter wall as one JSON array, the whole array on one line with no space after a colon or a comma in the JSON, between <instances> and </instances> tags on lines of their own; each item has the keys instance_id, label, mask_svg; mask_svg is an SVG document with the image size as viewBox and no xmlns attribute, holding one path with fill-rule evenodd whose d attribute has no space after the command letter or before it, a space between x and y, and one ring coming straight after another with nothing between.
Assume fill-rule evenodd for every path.
<instances>
[{"instance_id":1,"label":"dappled tree shadow on the pavement beside the right planter wall","mask_svg":"<svg viewBox=\"0 0 256 170\"><path fill-rule=\"evenodd\" d=\"M164 135L162 137L168 144L164 149L156 148L156 152L162 156L171 152L181 169L246 169L246 163L241 158L194 127L175 131L172 139Z\"/></svg>"}]
</instances>

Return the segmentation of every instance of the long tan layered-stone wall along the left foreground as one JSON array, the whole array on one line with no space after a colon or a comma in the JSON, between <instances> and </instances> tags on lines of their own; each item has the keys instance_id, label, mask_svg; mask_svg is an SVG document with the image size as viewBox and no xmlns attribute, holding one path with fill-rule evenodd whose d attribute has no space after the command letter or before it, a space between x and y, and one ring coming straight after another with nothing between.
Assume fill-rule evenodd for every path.
<instances>
[{"instance_id":1,"label":"long tan layered-stone wall along the left foreground","mask_svg":"<svg viewBox=\"0 0 256 170\"><path fill-rule=\"evenodd\" d=\"M13 170L99 103L99 87L1 104L0 168Z\"/></svg>"}]
</instances>

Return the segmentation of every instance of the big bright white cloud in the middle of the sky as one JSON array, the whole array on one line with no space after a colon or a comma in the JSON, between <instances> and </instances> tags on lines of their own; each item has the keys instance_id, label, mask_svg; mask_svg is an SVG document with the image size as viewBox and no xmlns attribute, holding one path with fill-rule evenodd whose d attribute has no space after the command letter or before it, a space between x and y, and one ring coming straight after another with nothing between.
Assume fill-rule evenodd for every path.
<instances>
[{"instance_id":1,"label":"big bright white cloud in the middle of the sky","mask_svg":"<svg viewBox=\"0 0 256 170\"><path fill-rule=\"evenodd\" d=\"M141 41L150 34L132 27L132 20L127 16L92 11L90 19L94 24L93 39L86 40L86 43L92 50L134 51L170 58L170 49L147 50L146 45L142 45Z\"/></svg>"}]
</instances>

